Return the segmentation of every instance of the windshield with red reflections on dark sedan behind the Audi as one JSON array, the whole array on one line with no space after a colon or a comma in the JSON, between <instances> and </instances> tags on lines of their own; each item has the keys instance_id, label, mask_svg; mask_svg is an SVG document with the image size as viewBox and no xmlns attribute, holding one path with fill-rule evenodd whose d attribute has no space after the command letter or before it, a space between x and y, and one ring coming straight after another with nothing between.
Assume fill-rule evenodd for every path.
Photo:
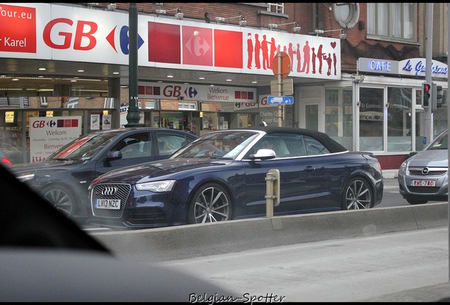
<instances>
[{"instance_id":1,"label":"windshield with red reflections on dark sedan behind the Audi","mask_svg":"<svg viewBox=\"0 0 450 305\"><path fill-rule=\"evenodd\" d=\"M89 160L115 137L115 133L99 133L78 138L52 153L47 159Z\"/></svg>"}]
</instances>

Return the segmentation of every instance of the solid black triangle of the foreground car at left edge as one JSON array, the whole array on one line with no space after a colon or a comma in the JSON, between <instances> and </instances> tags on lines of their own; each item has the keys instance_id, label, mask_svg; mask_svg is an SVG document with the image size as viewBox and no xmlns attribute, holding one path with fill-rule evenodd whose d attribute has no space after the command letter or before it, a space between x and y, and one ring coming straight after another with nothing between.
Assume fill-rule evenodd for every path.
<instances>
[{"instance_id":1,"label":"solid black triangle of the foreground car at left edge","mask_svg":"<svg viewBox=\"0 0 450 305\"><path fill-rule=\"evenodd\" d=\"M0 246L86 249L110 253L78 225L0 166ZM64 232L64 234L62 234Z\"/></svg>"}]
</instances>

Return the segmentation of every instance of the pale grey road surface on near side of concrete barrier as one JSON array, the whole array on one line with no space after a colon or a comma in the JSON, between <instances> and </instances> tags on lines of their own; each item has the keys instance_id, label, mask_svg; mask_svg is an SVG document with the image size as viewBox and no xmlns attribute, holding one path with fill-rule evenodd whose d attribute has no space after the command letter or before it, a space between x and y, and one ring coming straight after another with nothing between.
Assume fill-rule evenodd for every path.
<instances>
[{"instance_id":1,"label":"pale grey road surface on near side of concrete barrier","mask_svg":"<svg viewBox=\"0 0 450 305\"><path fill-rule=\"evenodd\" d=\"M260 301L270 295L298 302L439 301L450 297L446 227L161 264L236 292L233 297L262 296Z\"/></svg>"}]
</instances>

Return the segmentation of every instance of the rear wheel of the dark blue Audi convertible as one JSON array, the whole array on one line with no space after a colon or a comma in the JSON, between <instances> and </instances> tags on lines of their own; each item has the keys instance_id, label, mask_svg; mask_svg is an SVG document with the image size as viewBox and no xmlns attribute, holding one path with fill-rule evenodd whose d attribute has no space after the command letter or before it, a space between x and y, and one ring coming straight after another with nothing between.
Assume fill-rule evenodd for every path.
<instances>
[{"instance_id":1,"label":"rear wheel of the dark blue Audi convertible","mask_svg":"<svg viewBox=\"0 0 450 305\"><path fill-rule=\"evenodd\" d=\"M341 210L360 210L374 206L374 193L366 179L354 177L345 184Z\"/></svg>"}]
</instances>

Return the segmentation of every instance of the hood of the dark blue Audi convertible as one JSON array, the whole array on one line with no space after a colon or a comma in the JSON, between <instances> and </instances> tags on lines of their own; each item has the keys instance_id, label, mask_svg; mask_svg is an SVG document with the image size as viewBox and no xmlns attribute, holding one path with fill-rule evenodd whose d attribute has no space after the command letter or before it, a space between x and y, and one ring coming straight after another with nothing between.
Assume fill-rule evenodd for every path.
<instances>
[{"instance_id":1,"label":"hood of the dark blue Audi convertible","mask_svg":"<svg viewBox=\"0 0 450 305\"><path fill-rule=\"evenodd\" d=\"M176 175L185 175L186 172L198 172L199 169L220 167L230 164L233 160L226 159L166 159L154 162L147 162L132 167L115 169L103 174L96 183L136 183L142 179L176 179Z\"/></svg>"}]
</instances>

